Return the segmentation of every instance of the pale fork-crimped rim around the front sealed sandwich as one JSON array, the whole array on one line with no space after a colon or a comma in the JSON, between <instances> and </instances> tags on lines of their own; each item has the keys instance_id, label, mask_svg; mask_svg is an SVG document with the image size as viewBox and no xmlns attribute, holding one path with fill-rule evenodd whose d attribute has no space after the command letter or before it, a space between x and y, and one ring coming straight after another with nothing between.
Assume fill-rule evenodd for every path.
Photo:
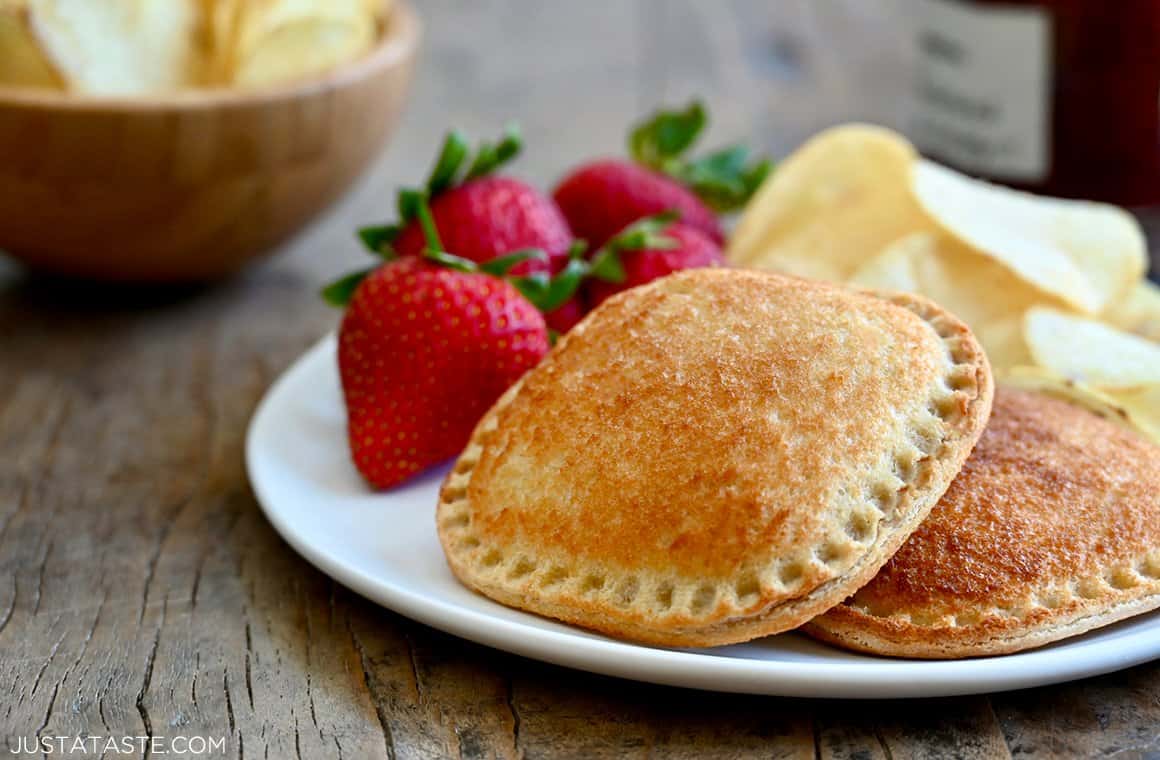
<instances>
[{"instance_id":1,"label":"pale fork-crimped rim around the front sealed sandwich","mask_svg":"<svg viewBox=\"0 0 1160 760\"><path fill-rule=\"evenodd\" d=\"M712 273L709 276L722 275ZM790 282L785 277L766 273L733 272L726 276L773 278L781 284ZM687 283L679 281L676 284L684 287ZM803 283L803 287L831 289L814 283ZM639 290L645 289L637 289ZM855 295L857 298L864 297L864 294L851 294ZM630 295L625 299L632 297ZM851 298L851 307L856 307L857 298ZM712 599L699 607L696 596L698 589L682 591L684 587L679 585L677 596L686 591L690 596L673 598L667 608L658 610L655 607L633 603L630 596L638 591L644 595L645 592L640 589L630 589L623 599L618 599L617 588L585 588L592 577L592 563L577 570L578 564L582 563L575 563L571 556L559 552L543 552L530 559L506 556L506 547L492 545L494 542L490 541L486 533L474 531L472 528L480 520L471 501L476 487L472 480L479 459L488 447L508 446L507 439L501 441L495 437L496 430L503 433L506 408L513 399L521 392L528 392L522 385L505 395L481 420L472 442L441 492L438 531L452 572L464 585L505 605L611 636L666 646L713 646L789 630L839 603L872 578L922 521L960 469L989 414L989 367L965 325L922 298L902 295L884 298L919 316L922 321L918 324L926 325L926 330L937 335L937 341L945 347L947 354L954 356L957 372L955 384L967 390L942 399L944 405L949 404L954 408L942 410L945 425L940 440L933 450L913 463L908 479L899 482L891 519L882 522L880 531L871 544L851 563L842 566L841 572L827 574L827 566L804 563L797 569L795 577L780 587L776 580L773 586L762 581L760 587L755 584L752 589L746 589L749 593L742 593L746 581L735 580L725 593L715 591ZM585 323L580 330L585 330L587 325ZM566 338L564 343L568 340ZM809 551L811 547L804 549ZM811 557L815 556L817 547L813 550ZM492 565L488 565L490 562ZM615 565L611 569L601 567L603 574L616 580ZM705 572L712 573L713 565L706 565ZM705 578L716 577L706 574ZM603 584L603 579L600 582ZM650 581L647 578L641 581L633 577L632 582L644 582L647 586ZM567 586L568 584L571 585ZM732 593L733 589L735 593Z\"/></svg>"}]
</instances>

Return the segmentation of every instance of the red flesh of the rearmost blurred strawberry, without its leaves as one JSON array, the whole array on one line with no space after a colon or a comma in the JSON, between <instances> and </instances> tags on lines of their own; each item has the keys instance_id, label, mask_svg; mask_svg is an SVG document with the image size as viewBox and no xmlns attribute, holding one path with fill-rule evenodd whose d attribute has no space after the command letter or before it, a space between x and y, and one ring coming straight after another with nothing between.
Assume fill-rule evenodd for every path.
<instances>
[{"instance_id":1,"label":"red flesh of the rearmost blurred strawberry, without its leaves","mask_svg":"<svg viewBox=\"0 0 1160 760\"><path fill-rule=\"evenodd\" d=\"M681 222L718 244L725 240L717 215L676 180L631 161L593 161L568 174L552 194L577 236L594 246L637 219L674 210Z\"/></svg>"}]
</instances>

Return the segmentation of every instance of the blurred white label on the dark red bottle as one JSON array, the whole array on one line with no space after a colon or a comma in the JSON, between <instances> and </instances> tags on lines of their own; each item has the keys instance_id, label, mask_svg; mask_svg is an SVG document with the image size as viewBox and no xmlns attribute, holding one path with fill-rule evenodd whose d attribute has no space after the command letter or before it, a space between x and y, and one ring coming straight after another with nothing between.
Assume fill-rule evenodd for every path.
<instances>
[{"instance_id":1,"label":"blurred white label on the dark red bottle","mask_svg":"<svg viewBox=\"0 0 1160 760\"><path fill-rule=\"evenodd\" d=\"M914 142L969 172L1043 180L1051 151L1051 17L1038 7L915 5Z\"/></svg>"}]
</instances>

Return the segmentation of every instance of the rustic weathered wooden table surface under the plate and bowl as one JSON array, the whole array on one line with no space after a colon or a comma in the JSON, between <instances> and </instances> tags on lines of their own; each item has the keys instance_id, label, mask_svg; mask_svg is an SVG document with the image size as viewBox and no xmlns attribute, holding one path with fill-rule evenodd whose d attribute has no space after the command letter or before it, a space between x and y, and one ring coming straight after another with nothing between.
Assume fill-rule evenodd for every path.
<instances>
[{"instance_id":1,"label":"rustic weathered wooden table surface under the plate and bowl","mask_svg":"<svg viewBox=\"0 0 1160 760\"><path fill-rule=\"evenodd\" d=\"M274 534L246 483L246 422L334 326L316 291L361 260L351 230L389 213L447 124L491 135L519 117L520 171L548 183L691 94L710 101L716 139L774 152L901 114L905 45L878 1L420 9L425 51L396 139L268 263L180 291L0 269L0 744L225 737L231 757L275 759L1160 757L1160 664L914 702L645 686L404 620Z\"/></svg>"}]
</instances>

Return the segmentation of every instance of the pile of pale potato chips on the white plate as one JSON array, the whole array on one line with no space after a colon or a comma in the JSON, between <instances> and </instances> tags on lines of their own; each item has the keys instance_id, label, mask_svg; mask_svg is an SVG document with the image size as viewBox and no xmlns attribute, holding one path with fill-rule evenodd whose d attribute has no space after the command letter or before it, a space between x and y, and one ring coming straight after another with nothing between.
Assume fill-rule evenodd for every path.
<instances>
[{"instance_id":1,"label":"pile of pale potato chips on the white plate","mask_svg":"<svg viewBox=\"0 0 1160 760\"><path fill-rule=\"evenodd\" d=\"M1066 388L1160 441L1160 288L1123 209L971 179L854 124L777 167L728 258L927 296L971 325L1000 377Z\"/></svg>"}]
</instances>

